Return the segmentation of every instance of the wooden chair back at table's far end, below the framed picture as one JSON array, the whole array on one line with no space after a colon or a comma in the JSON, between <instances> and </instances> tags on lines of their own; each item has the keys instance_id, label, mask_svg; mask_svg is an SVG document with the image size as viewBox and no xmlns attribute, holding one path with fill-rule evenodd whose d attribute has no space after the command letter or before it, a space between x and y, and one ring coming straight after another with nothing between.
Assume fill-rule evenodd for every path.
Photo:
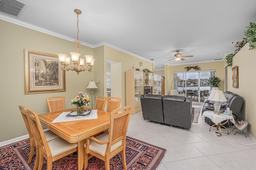
<instances>
[{"instance_id":1,"label":"wooden chair back at table's far end, below the framed picture","mask_svg":"<svg viewBox=\"0 0 256 170\"><path fill-rule=\"evenodd\" d=\"M46 98L49 112L62 111L65 109L65 97L54 96Z\"/></svg>"}]
</instances>

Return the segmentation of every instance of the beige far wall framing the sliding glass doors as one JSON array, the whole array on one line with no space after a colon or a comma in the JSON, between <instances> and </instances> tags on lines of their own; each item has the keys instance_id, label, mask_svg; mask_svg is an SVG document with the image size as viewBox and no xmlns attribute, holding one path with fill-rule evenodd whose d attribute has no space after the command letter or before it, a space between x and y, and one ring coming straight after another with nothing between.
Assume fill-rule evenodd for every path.
<instances>
[{"instance_id":1,"label":"beige far wall framing the sliding glass doors","mask_svg":"<svg viewBox=\"0 0 256 170\"><path fill-rule=\"evenodd\" d=\"M196 63L196 64L173 65L173 66L165 65L165 93L167 94L167 92L171 89L171 82L174 79L173 73L186 72L184 67L196 66L196 65L198 65L198 67L201 67L201 71L215 70L215 76L220 78L221 86L219 89L224 91L225 61L216 61L216 62L208 62L208 63ZM190 71L195 71L195 70L191 69Z\"/></svg>"}]
</instances>

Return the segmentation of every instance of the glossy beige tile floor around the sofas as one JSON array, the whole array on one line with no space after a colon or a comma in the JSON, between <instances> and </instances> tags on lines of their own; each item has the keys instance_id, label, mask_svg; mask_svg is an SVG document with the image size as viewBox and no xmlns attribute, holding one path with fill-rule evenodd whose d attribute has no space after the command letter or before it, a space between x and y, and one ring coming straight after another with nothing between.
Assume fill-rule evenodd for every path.
<instances>
[{"instance_id":1,"label":"glossy beige tile floor around the sofas","mask_svg":"<svg viewBox=\"0 0 256 170\"><path fill-rule=\"evenodd\" d=\"M250 144L250 137L242 132L234 135L236 130L231 134L222 130L222 138L214 134L216 128L210 132L209 128L201 115L192 128L180 129L150 123L140 112L131 115L127 136L166 149L158 170L256 170L256 144L230 141Z\"/></svg>"}]
</instances>

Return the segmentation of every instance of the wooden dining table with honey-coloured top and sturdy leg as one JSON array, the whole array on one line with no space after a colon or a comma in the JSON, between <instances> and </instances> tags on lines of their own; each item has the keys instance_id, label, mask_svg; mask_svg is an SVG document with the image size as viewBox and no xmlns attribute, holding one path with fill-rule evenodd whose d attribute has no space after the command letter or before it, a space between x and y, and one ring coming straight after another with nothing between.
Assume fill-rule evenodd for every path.
<instances>
[{"instance_id":1,"label":"wooden dining table with honey-coloured top and sturdy leg","mask_svg":"<svg viewBox=\"0 0 256 170\"><path fill-rule=\"evenodd\" d=\"M44 113L38 115L38 117L44 127L48 128L61 138L70 143L77 142L78 170L82 170L84 167L84 142L86 141L86 138L109 128L110 113L98 110L97 119L52 123L52 121L56 119L56 117L58 117L61 113L70 112L72 110L76 110L76 108Z\"/></svg>"}]
</instances>

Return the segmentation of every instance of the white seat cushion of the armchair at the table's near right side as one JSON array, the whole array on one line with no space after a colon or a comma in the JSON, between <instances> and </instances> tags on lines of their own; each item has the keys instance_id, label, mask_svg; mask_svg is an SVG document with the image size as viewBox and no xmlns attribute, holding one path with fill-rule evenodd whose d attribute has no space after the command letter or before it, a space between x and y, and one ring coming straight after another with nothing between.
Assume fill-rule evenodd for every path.
<instances>
[{"instance_id":1,"label":"white seat cushion of the armchair at the table's near right side","mask_svg":"<svg viewBox=\"0 0 256 170\"><path fill-rule=\"evenodd\" d=\"M108 140L108 133L100 134L99 136L96 136L95 138L100 141L106 141L106 140ZM85 146L86 146L86 143L84 144L84 147ZM113 144L110 148L110 152L112 152L119 146L122 146L122 140ZM96 142L90 140L90 146L89 146L90 150L92 150L98 154L101 154L102 156L105 156L106 148L107 148L107 144L97 144Z\"/></svg>"}]
</instances>

